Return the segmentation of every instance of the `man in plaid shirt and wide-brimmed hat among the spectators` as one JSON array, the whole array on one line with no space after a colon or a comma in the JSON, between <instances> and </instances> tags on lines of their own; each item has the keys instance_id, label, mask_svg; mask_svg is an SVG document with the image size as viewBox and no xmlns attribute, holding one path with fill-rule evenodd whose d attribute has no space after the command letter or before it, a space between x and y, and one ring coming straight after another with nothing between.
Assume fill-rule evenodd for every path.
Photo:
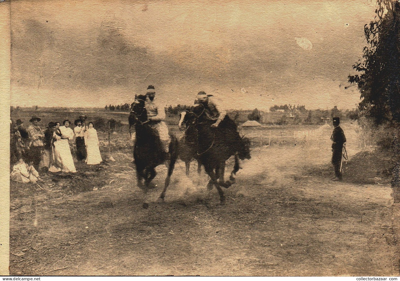
<instances>
[{"instance_id":1,"label":"man in plaid shirt and wide-brimmed hat among the spectators","mask_svg":"<svg viewBox=\"0 0 400 281\"><path fill-rule=\"evenodd\" d=\"M38 170L43 150L42 139L44 137L44 132L38 126L38 122L40 121L39 117L32 116L29 121L32 123L32 125L28 127L28 134L30 139L29 159L32 160L34 168Z\"/></svg>"}]
</instances>

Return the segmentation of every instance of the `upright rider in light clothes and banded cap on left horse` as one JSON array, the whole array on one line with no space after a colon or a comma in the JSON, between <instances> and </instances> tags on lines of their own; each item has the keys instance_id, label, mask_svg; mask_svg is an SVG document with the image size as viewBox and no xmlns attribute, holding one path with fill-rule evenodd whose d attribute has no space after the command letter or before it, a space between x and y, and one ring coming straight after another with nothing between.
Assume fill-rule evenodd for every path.
<instances>
[{"instance_id":1,"label":"upright rider in light clothes and banded cap on left horse","mask_svg":"<svg viewBox=\"0 0 400 281\"><path fill-rule=\"evenodd\" d=\"M160 137L162 148L164 152L169 152L170 135L168 134L168 127L165 120L165 109L164 106L160 105L156 97L156 90L154 86L150 85L146 91L146 101L144 106L147 111L147 118L149 120L150 127L157 132Z\"/></svg>"}]
</instances>

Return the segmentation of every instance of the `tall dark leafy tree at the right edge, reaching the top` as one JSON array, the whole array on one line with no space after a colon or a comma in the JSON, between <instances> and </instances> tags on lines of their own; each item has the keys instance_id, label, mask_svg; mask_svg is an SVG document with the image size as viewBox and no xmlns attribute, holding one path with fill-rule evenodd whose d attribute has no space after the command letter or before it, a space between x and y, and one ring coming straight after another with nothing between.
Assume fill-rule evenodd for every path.
<instances>
[{"instance_id":1,"label":"tall dark leafy tree at the right edge, reaching the top","mask_svg":"<svg viewBox=\"0 0 400 281\"><path fill-rule=\"evenodd\" d=\"M382 124L400 121L400 3L378 0L377 6L374 20L364 26L363 59L353 66L361 74L348 81L358 85L360 111Z\"/></svg>"}]
</instances>

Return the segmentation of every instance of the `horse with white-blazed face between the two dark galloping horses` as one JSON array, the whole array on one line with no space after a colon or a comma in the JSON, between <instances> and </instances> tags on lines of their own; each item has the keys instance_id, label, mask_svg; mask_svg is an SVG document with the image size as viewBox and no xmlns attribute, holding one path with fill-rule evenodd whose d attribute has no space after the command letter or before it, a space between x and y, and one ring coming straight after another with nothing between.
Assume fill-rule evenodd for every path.
<instances>
[{"instance_id":1,"label":"horse with white-blazed face between the two dark galloping horses","mask_svg":"<svg viewBox=\"0 0 400 281\"><path fill-rule=\"evenodd\" d=\"M188 118L185 118L188 112L190 111L184 110L180 113L178 123L179 129L184 130L184 135L178 142L178 150L179 158L185 162L186 176L189 176L190 162L192 162L192 159L197 160L197 172L198 174L201 173L201 162L197 157L198 132L194 123L188 122Z\"/></svg>"}]
</instances>

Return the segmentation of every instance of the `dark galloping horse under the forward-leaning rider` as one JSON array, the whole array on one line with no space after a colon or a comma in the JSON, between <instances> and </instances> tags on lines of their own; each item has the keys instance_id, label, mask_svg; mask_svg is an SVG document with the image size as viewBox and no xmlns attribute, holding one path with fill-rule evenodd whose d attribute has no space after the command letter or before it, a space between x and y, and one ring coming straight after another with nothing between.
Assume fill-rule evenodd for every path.
<instances>
[{"instance_id":1,"label":"dark galloping horse under the forward-leaning rider","mask_svg":"<svg viewBox=\"0 0 400 281\"><path fill-rule=\"evenodd\" d=\"M240 167L239 158L241 160L251 158L250 140L239 136L236 124L228 116L217 128L212 127L214 121L207 119L205 111L206 108L203 105L197 105L192 112L185 114L184 122L191 123L197 129L197 158L211 178L208 186L214 185L217 188L221 204L224 204L225 196L221 186L228 188L232 184L230 181L224 181L225 162L230 156L235 156L235 166L231 174L233 181L233 175Z\"/></svg>"}]
</instances>

